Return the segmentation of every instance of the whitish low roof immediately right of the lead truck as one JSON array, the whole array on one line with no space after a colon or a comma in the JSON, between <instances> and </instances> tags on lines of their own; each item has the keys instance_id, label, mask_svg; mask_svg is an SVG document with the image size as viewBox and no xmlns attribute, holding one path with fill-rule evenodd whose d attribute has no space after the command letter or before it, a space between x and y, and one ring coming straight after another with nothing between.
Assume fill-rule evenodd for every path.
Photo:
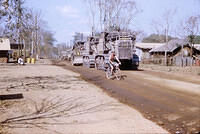
<instances>
[{"instance_id":1,"label":"whitish low roof immediately right of the lead truck","mask_svg":"<svg viewBox=\"0 0 200 134\"><path fill-rule=\"evenodd\" d=\"M152 49L156 47L163 46L165 43L135 43L135 46L137 48L143 48L143 49Z\"/></svg>"}]
</instances>

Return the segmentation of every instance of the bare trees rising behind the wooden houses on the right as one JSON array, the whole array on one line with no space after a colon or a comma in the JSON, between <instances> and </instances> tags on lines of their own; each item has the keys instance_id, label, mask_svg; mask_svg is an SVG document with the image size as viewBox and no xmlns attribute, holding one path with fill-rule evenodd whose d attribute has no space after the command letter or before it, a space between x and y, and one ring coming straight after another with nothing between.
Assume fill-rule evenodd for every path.
<instances>
[{"instance_id":1,"label":"bare trees rising behind the wooden houses on the right","mask_svg":"<svg viewBox=\"0 0 200 134\"><path fill-rule=\"evenodd\" d=\"M187 39L190 44L200 43L200 14L186 17L174 27L174 15L176 9L168 9L164 12L161 21L153 20L154 34L145 37L142 42L164 43L173 39ZM173 28L174 27L174 28ZM174 37L169 34L174 35Z\"/></svg>"}]
</instances>

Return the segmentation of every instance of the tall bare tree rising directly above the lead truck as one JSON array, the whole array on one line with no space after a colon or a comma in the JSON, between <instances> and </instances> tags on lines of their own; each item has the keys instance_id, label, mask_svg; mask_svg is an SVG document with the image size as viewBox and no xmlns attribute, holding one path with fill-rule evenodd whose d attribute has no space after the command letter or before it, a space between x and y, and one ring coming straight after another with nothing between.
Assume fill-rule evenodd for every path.
<instances>
[{"instance_id":1,"label":"tall bare tree rising directly above the lead truck","mask_svg":"<svg viewBox=\"0 0 200 134\"><path fill-rule=\"evenodd\" d=\"M134 0L86 0L93 18L94 29L112 30L113 28L127 30L138 12Z\"/></svg>"}]
</instances>

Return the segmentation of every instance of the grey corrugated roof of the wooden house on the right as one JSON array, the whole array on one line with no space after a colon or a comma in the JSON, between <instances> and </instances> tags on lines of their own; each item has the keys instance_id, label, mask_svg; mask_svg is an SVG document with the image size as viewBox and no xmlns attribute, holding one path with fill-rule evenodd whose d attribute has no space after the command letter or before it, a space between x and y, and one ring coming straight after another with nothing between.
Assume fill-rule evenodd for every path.
<instances>
[{"instance_id":1,"label":"grey corrugated roof of the wooden house on the right","mask_svg":"<svg viewBox=\"0 0 200 134\"><path fill-rule=\"evenodd\" d=\"M165 44L163 46L154 48L150 51L151 52L173 52L176 48L180 47L180 46L184 46L187 45L188 41L187 40L181 40L181 39L175 39L175 40L171 40L168 42L168 44Z\"/></svg>"}]
</instances>

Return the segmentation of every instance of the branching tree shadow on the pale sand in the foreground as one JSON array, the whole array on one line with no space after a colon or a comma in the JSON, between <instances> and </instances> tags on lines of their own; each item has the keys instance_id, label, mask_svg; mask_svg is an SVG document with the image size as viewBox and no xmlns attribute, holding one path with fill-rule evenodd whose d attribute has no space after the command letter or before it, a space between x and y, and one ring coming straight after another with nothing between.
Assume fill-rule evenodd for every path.
<instances>
[{"instance_id":1,"label":"branching tree shadow on the pale sand in the foreground","mask_svg":"<svg viewBox=\"0 0 200 134\"><path fill-rule=\"evenodd\" d=\"M33 111L22 113L19 116L8 117L0 122L0 127L5 128L40 128L42 130L59 133L51 130L51 125L71 125L71 124L88 124L90 122L77 121L72 122L69 118L89 113L104 112L116 109L118 103L101 103L88 105L82 97L63 97L56 96L53 98L46 97L41 102L30 100L33 105ZM65 121L60 120L64 118ZM94 123L94 122L93 122Z\"/></svg>"}]
</instances>

